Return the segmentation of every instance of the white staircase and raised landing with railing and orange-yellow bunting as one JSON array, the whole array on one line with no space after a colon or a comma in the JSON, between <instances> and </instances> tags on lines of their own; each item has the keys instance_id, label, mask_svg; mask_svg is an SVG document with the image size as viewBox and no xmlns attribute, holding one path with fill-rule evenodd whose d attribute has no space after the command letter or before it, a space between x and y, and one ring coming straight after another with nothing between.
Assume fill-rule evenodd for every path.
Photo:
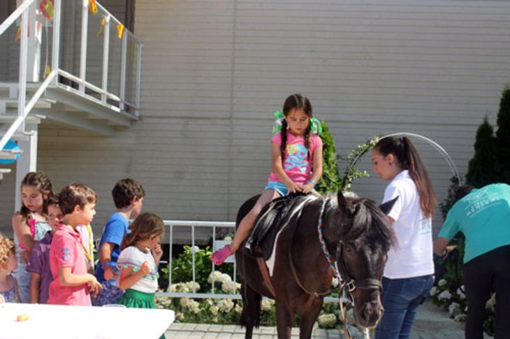
<instances>
[{"instance_id":1,"label":"white staircase and raised landing with railing and orange-yellow bunting","mask_svg":"<svg viewBox=\"0 0 510 339\"><path fill-rule=\"evenodd\" d=\"M24 0L0 46L0 160L19 157L16 187L36 170L41 121L113 136L139 119L142 44L97 1Z\"/></svg>"}]
</instances>

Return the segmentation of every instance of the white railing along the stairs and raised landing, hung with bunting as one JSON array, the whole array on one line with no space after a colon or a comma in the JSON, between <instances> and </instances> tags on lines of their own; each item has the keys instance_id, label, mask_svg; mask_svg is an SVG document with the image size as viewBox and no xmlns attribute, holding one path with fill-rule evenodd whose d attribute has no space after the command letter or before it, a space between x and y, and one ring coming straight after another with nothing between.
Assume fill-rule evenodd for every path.
<instances>
[{"instance_id":1,"label":"white railing along the stairs and raised landing, hung with bunting","mask_svg":"<svg viewBox=\"0 0 510 339\"><path fill-rule=\"evenodd\" d=\"M73 2L74 1L74 2ZM50 2L50 1L48 1ZM0 139L0 150L6 145L7 141L15 134L16 131L24 132L24 120L27 115L30 113L31 108L34 107L34 104L38 99L41 98L41 95L45 91L45 89L49 85L56 85L59 81L57 75L61 75L64 78L68 78L74 82L77 82L79 85L79 91L85 94L85 89L92 90L99 97L99 100L103 103L109 103L114 101L118 103L119 110L124 111L124 113L133 115L133 117L139 117L140 115L140 80L141 80L141 56L142 56L142 48L143 45L140 43L140 40L130 31L125 29L124 25L117 20L113 15L111 15L108 10L106 10L100 3L96 2L96 10L94 12L89 13L89 0L66 0L66 5L69 3L73 3L75 6L78 6L78 10L81 13L81 31L80 31L80 71L78 74L72 74L72 72L66 72L60 68L62 57L65 57L61 52L61 34L67 34L66 30L61 28L62 20L64 19L62 13L62 6L64 2L62 0L54 0L53 1L53 11L52 17L48 17L48 20L45 21L44 27L45 38L46 38L46 64L41 68L41 64L38 60L41 59L41 50L37 50L34 45L34 39L36 39L37 32L34 27L43 27L41 21L41 15L38 16L38 6L39 1L36 0L25 0L20 6L16 8L16 10L9 15L9 17L0 24L0 38L5 38L2 40L2 49L8 50L9 43L12 44L13 41L18 43L19 40L19 48L20 48L20 59L19 59L19 75L17 76L17 118L11 124L11 127L8 131L1 137ZM92 83L94 80L87 79L87 46L91 43L95 43L95 41L91 41L87 34L89 17L97 15L97 17L101 17L100 20L96 20L97 22L101 22L101 30L103 37L101 38L103 47L101 51L101 80L98 80L95 84ZM50 15L51 16L51 15ZM20 32L17 32L17 37L12 39L13 31L16 28L15 22L20 20ZM115 51L113 45L110 41L111 35L111 23L114 23L117 27L117 37L121 41L122 48L119 48L118 51ZM38 25L40 24L40 25ZM52 24L52 41L49 41L50 34L48 33L48 25ZM71 24L75 25L75 22ZM30 28L29 28L30 27ZM11 31L8 32L8 29ZM39 33L41 36L42 28L39 29L41 32ZM29 31L31 33L29 34ZM10 33L10 36L6 34L6 32ZM99 38L100 34L94 32L94 37ZM41 39L39 36L39 39ZM31 48L34 50L30 50L29 52L29 39L31 39ZM43 44L39 41L41 45ZM51 48L50 48L51 46ZM10 45L10 47L13 47ZM17 48L17 45L14 45L14 48ZM30 101L26 102L27 95L27 73L39 72L41 69L45 69L47 66L49 67L50 62L48 61L49 50L51 50L51 71L50 73L45 74L45 80L38 87L34 95L31 97ZM90 52L90 50L89 50ZM114 53L118 52L118 53ZM39 55L37 59L34 57L35 55ZM91 55L95 55L94 53L90 53ZM110 59L112 57L117 57L119 59L119 65L110 64ZM71 57L74 57L71 55ZM29 64L34 61L33 64ZM119 66L118 69L115 66ZM7 66L6 66L7 67ZM115 70L115 71L114 71ZM11 70L12 71L12 70ZM117 72L118 71L118 72ZM12 73L12 72L10 72ZM39 72L40 73L40 72ZM112 78L112 73L116 73L116 75ZM118 82L117 82L118 75ZM30 79L31 82L34 79L38 78L38 74L35 76L32 75ZM0 79L1 81L2 79ZM92 82L91 82L92 81ZM117 84L114 84L117 82ZM115 89L118 87L118 95L113 93Z\"/></svg>"}]
</instances>

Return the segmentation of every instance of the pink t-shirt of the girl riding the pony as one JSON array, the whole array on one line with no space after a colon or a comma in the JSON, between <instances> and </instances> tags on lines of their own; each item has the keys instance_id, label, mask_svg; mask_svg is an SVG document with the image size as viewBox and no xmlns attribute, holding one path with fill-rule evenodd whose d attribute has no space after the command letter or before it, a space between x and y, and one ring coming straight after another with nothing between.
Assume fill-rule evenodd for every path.
<instances>
[{"instance_id":1,"label":"pink t-shirt of the girl riding the pony","mask_svg":"<svg viewBox=\"0 0 510 339\"><path fill-rule=\"evenodd\" d=\"M276 143L278 147L282 145L282 135L280 133L272 136L271 143ZM322 140L316 134L310 135L310 156L305 147L305 138L303 136L293 136L287 131L287 140L285 147L285 159L283 168L289 178L298 185L305 185L312 178L314 168L314 151L322 146ZM280 181L274 172L269 175L268 181Z\"/></svg>"}]
</instances>

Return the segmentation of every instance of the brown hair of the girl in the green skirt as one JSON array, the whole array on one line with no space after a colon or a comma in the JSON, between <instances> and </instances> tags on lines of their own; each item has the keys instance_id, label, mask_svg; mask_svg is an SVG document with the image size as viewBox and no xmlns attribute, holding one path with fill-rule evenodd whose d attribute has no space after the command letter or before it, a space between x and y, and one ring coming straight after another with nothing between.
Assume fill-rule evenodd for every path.
<instances>
[{"instance_id":1,"label":"brown hair of the girl in the green skirt","mask_svg":"<svg viewBox=\"0 0 510 339\"><path fill-rule=\"evenodd\" d=\"M129 225L131 233L126 234L122 240L121 249L135 245L140 240L152 239L156 236L163 236L165 233L165 224L163 220L155 213L140 213L138 217Z\"/></svg>"}]
</instances>

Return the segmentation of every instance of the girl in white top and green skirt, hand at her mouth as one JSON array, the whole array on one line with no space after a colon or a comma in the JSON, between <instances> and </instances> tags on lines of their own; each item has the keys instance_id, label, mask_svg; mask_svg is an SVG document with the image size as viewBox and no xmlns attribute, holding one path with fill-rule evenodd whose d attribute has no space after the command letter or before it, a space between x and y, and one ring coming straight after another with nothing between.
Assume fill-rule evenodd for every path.
<instances>
[{"instance_id":1,"label":"girl in white top and green skirt, hand at her mouth","mask_svg":"<svg viewBox=\"0 0 510 339\"><path fill-rule=\"evenodd\" d=\"M154 294L158 289L159 259L163 255L159 240L165 225L154 213L141 213L129 229L131 233L124 237L117 260L119 288L126 291L119 303L128 308L156 308Z\"/></svg>"}]
</instances>

